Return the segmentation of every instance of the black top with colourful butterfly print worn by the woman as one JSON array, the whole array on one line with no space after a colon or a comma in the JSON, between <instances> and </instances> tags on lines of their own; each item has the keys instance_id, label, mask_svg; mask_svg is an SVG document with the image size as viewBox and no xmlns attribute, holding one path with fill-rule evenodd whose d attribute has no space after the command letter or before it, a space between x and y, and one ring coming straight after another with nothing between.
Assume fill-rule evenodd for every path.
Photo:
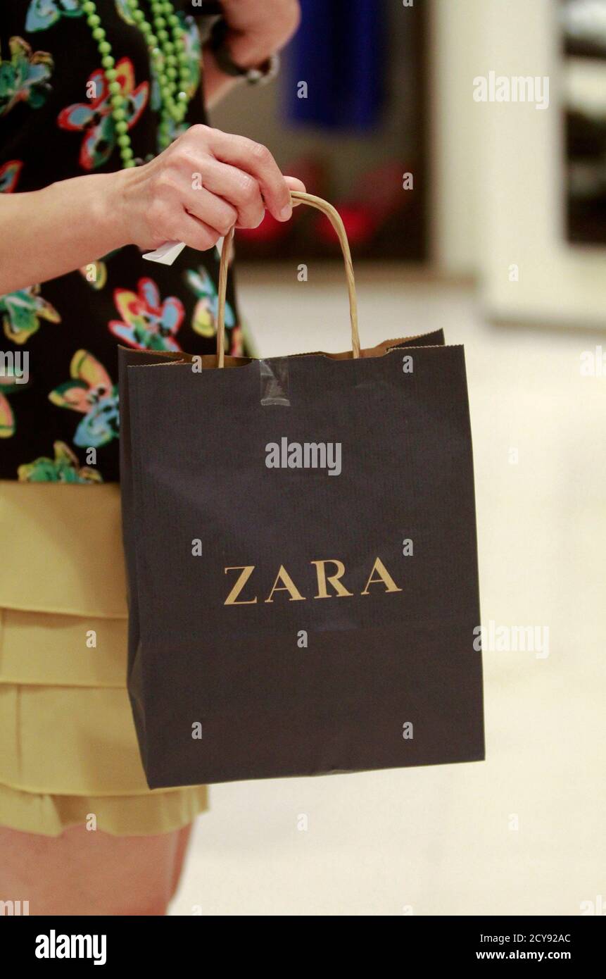
<instances>
[{"instance_id":1,"label":"black top with colourful butterfly print worn by the woman","mask_svg":"<svg viewBox=\"0 0 606 979\"><path fill-rule=\"evenodd\" d=\"M112 40L133 152L146 163L159 152L158 79L128 0L96 2ZM205 4L173 6L192 77L188 115L174 138L206 122L201 30L210 21ZM2 194L120 167L110 93L83 15L82 0L0 4ZM172 266L151 266L129 246L0 296L0 348L15 366L0 370L0 479L117 481L117 345L212 353L218 266L215 249L185 249ZM232 273L226 325L229 352L246 352Z\"/></svg>"}]
</instances>

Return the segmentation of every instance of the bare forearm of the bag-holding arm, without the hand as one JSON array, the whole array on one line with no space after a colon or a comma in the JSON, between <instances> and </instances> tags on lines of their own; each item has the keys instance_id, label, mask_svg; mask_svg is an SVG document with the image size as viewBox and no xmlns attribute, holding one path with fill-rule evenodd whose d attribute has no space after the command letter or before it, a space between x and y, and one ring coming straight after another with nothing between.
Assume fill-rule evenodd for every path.
<instances>
[{"instance_id":1,"label":"bare forearm of the bag-holding arm, without the hand","mask_svg":"<svg viewBox=\"0 0 606 979\"><path fill-rule=\"evenodd\" d=\"M0 194L0 296L72 272L127 244L122 173Z\"/></svg>"}]
</instances>

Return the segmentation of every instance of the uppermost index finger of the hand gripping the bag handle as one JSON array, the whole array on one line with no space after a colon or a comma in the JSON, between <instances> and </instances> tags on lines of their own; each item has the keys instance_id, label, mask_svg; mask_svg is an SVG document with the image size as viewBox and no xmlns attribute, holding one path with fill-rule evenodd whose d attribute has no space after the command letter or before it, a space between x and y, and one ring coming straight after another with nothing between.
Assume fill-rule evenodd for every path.
<instances>
[{"instance_id":1,"label":"uppermost index finger of the hand gripping the bag handle","mask_svg":"<svg viewBox=\"0 0 606 979\"><path fill-rule=\"evenodd\" d=\"M192 130L194 131L194 126ZM278 221L286 221L292 214L291 195L280 171L266 146L247 136L235 136L210 129L206 145L216 160L230 163L256 179L265 207Z\"/></svg>"}]
</instances>

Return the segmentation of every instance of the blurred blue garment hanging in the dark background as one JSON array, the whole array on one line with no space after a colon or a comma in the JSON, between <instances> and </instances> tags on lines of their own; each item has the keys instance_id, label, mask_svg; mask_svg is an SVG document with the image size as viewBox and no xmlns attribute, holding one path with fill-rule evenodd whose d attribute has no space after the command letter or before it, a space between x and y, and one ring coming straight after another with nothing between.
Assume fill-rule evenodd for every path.
<instances>
[{"instance_id":1,"label":"blurred blue garment hanging in the dark background","mask_svg":"<svg viewBox=\"0 0 606 979\"><path fill-rule=\"evenodd\" d=\"M293 122L366 129L379 121L387 63L384 0L302 0L288 52ZM298 83L307 83L307 98Z\"/></svg>"}]
</instances>

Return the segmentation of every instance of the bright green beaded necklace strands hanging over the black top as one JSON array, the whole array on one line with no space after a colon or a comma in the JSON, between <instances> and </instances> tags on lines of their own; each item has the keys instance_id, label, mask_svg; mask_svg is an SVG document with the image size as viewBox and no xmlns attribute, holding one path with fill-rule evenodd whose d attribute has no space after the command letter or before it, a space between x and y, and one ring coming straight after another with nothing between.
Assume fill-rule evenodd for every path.
<instances>
[{"instance_id":1,"label":"bright green beaded necklace strands hanging over the black top","mask_svg":"<svg viewBox=\"0 0 606 979\"><path fill-rule=\"evenodd\" d=\"M189 102L187 86L191 81L191 75L183 42L184 31L170 0L150 0L153 27L151 23L146 21L145 14L139 7L139 0L127 0L127 4L132 20L145 38L150 52L151 64L158 76L162 101L159 131L160 143L164 149L171 141L170 121L182 122L187 113ZM130 136L128 135L126 113L124 112L125 99L117 81L116 61L112 55L112 45L107 40L94 0L84 0L82 11L86 16L92 35L97 41L101 55L101 66L108 82L112 117L116 124L117 145L122 166L135 166ZM168 27L172 33L172 39L166 29Z\"/></svg>"}]
</instances>

